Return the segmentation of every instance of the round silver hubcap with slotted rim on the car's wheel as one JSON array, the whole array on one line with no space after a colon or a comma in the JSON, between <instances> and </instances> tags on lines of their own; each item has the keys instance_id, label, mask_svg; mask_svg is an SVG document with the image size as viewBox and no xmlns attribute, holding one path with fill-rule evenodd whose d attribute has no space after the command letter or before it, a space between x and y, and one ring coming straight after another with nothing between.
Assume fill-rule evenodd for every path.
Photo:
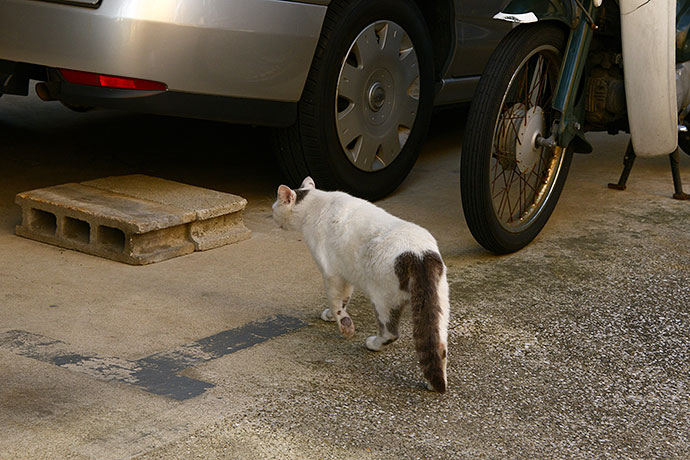
<instances>
[{"instance_id":1,"label":"round silver hubcap with slotted rim on the car's wheel","mask_svg":"<svg viewBox=\"0 0 690 460\"><path fill-rule=\"evenodd\" d=\"M400 155L417 118L419 61L410 37L377 21L355 38L343 59L335 124L348 160L378 171Z\"/></svg>"}]
</instances>

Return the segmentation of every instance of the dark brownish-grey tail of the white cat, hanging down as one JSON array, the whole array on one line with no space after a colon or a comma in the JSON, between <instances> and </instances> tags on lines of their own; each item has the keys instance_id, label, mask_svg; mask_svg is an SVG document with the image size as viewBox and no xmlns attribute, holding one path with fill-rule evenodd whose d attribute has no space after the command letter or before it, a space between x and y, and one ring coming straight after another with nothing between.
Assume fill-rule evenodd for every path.
<instances>
[{"instance_id":1,"label":"dark brownish-grey tail of the white cat, hanging down","mask_svg":"<svg viewBox=\"0 0 690 460\"><path fill-rule=\"evenodd\" d=\"M437 252L408 252L398 258L396 273L401 288L410 291L415 350L427 386L444 393L450 310L446 267Z\"/></svg>"}]
</instances>

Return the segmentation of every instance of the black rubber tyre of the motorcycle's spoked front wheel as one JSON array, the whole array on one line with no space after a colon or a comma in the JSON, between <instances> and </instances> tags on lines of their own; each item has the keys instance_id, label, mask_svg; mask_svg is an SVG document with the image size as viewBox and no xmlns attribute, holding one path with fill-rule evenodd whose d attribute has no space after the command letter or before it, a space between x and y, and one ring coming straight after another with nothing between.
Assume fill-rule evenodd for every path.
<instances>
[{"instance_id":1,"label":"black rubber tyre of the motorcycle's spoked front wheel","mask_svg":"<svg viewBox=\"0 0 690 460\"><path fill-rule=\"evenodd\" d=\"M520 233L505 231L495 216L489 188L489 161L493 126L495 126L503 94L517 66L533 49L550 44L564 50L565 31L555 24L529 24L513 29L494 50L484 69L482 78L470 106L460 164L460 190L465 220L475 240L495 254L509 254L529 244L546 225L558 201L568 175L572 148L564 152L565 158L549 201L537 220ZM490 129L487 127L490 126Z\"/></svg>"}]
</instances>

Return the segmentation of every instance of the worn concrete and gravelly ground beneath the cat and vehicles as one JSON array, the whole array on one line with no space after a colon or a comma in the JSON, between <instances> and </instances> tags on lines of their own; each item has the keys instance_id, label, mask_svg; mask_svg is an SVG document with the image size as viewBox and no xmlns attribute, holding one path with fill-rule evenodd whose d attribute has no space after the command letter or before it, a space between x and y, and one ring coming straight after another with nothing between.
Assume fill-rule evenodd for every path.
<instances>
[{"instance_id":1,"label":"worn concrete and gravelly ground beneath the cat and vehicles","mask_svg":"<svg viewBox=\"0 0 690 460\"><path fill-rule=\"evenodd\" d=\"M361 295L352 340L318 318L308 250L270 218L280 179L262 131L3 97L0 459L687 458L690 203L670 199L667 158L638 159L611 191L627 137L592 135L540 237L495 257L462 217L463 117L435 117L380 202L427 227L449 267L439 396L422 389L409 317L379 354ZM681 173L689 191L687 155ZM246 197L252 238L133 267L14 235L17 192L123 174ZM275 318L295 327L265 332ZM265 340L242 335L261 327ZM216 355L211 337L246 347ZM171 373L207 385L147 391L123 369L152 356L186 359Z\"/></svg>"}]
</instances>

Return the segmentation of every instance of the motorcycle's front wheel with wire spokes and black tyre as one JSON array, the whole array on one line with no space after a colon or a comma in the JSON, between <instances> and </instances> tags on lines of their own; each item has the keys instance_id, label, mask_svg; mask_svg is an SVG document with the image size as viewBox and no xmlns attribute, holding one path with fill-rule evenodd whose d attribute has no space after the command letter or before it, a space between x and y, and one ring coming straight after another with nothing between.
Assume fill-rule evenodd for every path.
<instances>
[{"instance_id":1,"label":"motorcycle's front wheel with wire spokes and black tyre","mask_svg":"<svg viewBox=\"0 0 690 460\"><path fill-rule=\"evenodd\" d=\"M489 251L529 244L558 201L571 149L549 138L559 114L551 107L566 34L556 25L513 29L492 54L468 115L460 163L467 225Z\"/></svg>"}]
</instances>

